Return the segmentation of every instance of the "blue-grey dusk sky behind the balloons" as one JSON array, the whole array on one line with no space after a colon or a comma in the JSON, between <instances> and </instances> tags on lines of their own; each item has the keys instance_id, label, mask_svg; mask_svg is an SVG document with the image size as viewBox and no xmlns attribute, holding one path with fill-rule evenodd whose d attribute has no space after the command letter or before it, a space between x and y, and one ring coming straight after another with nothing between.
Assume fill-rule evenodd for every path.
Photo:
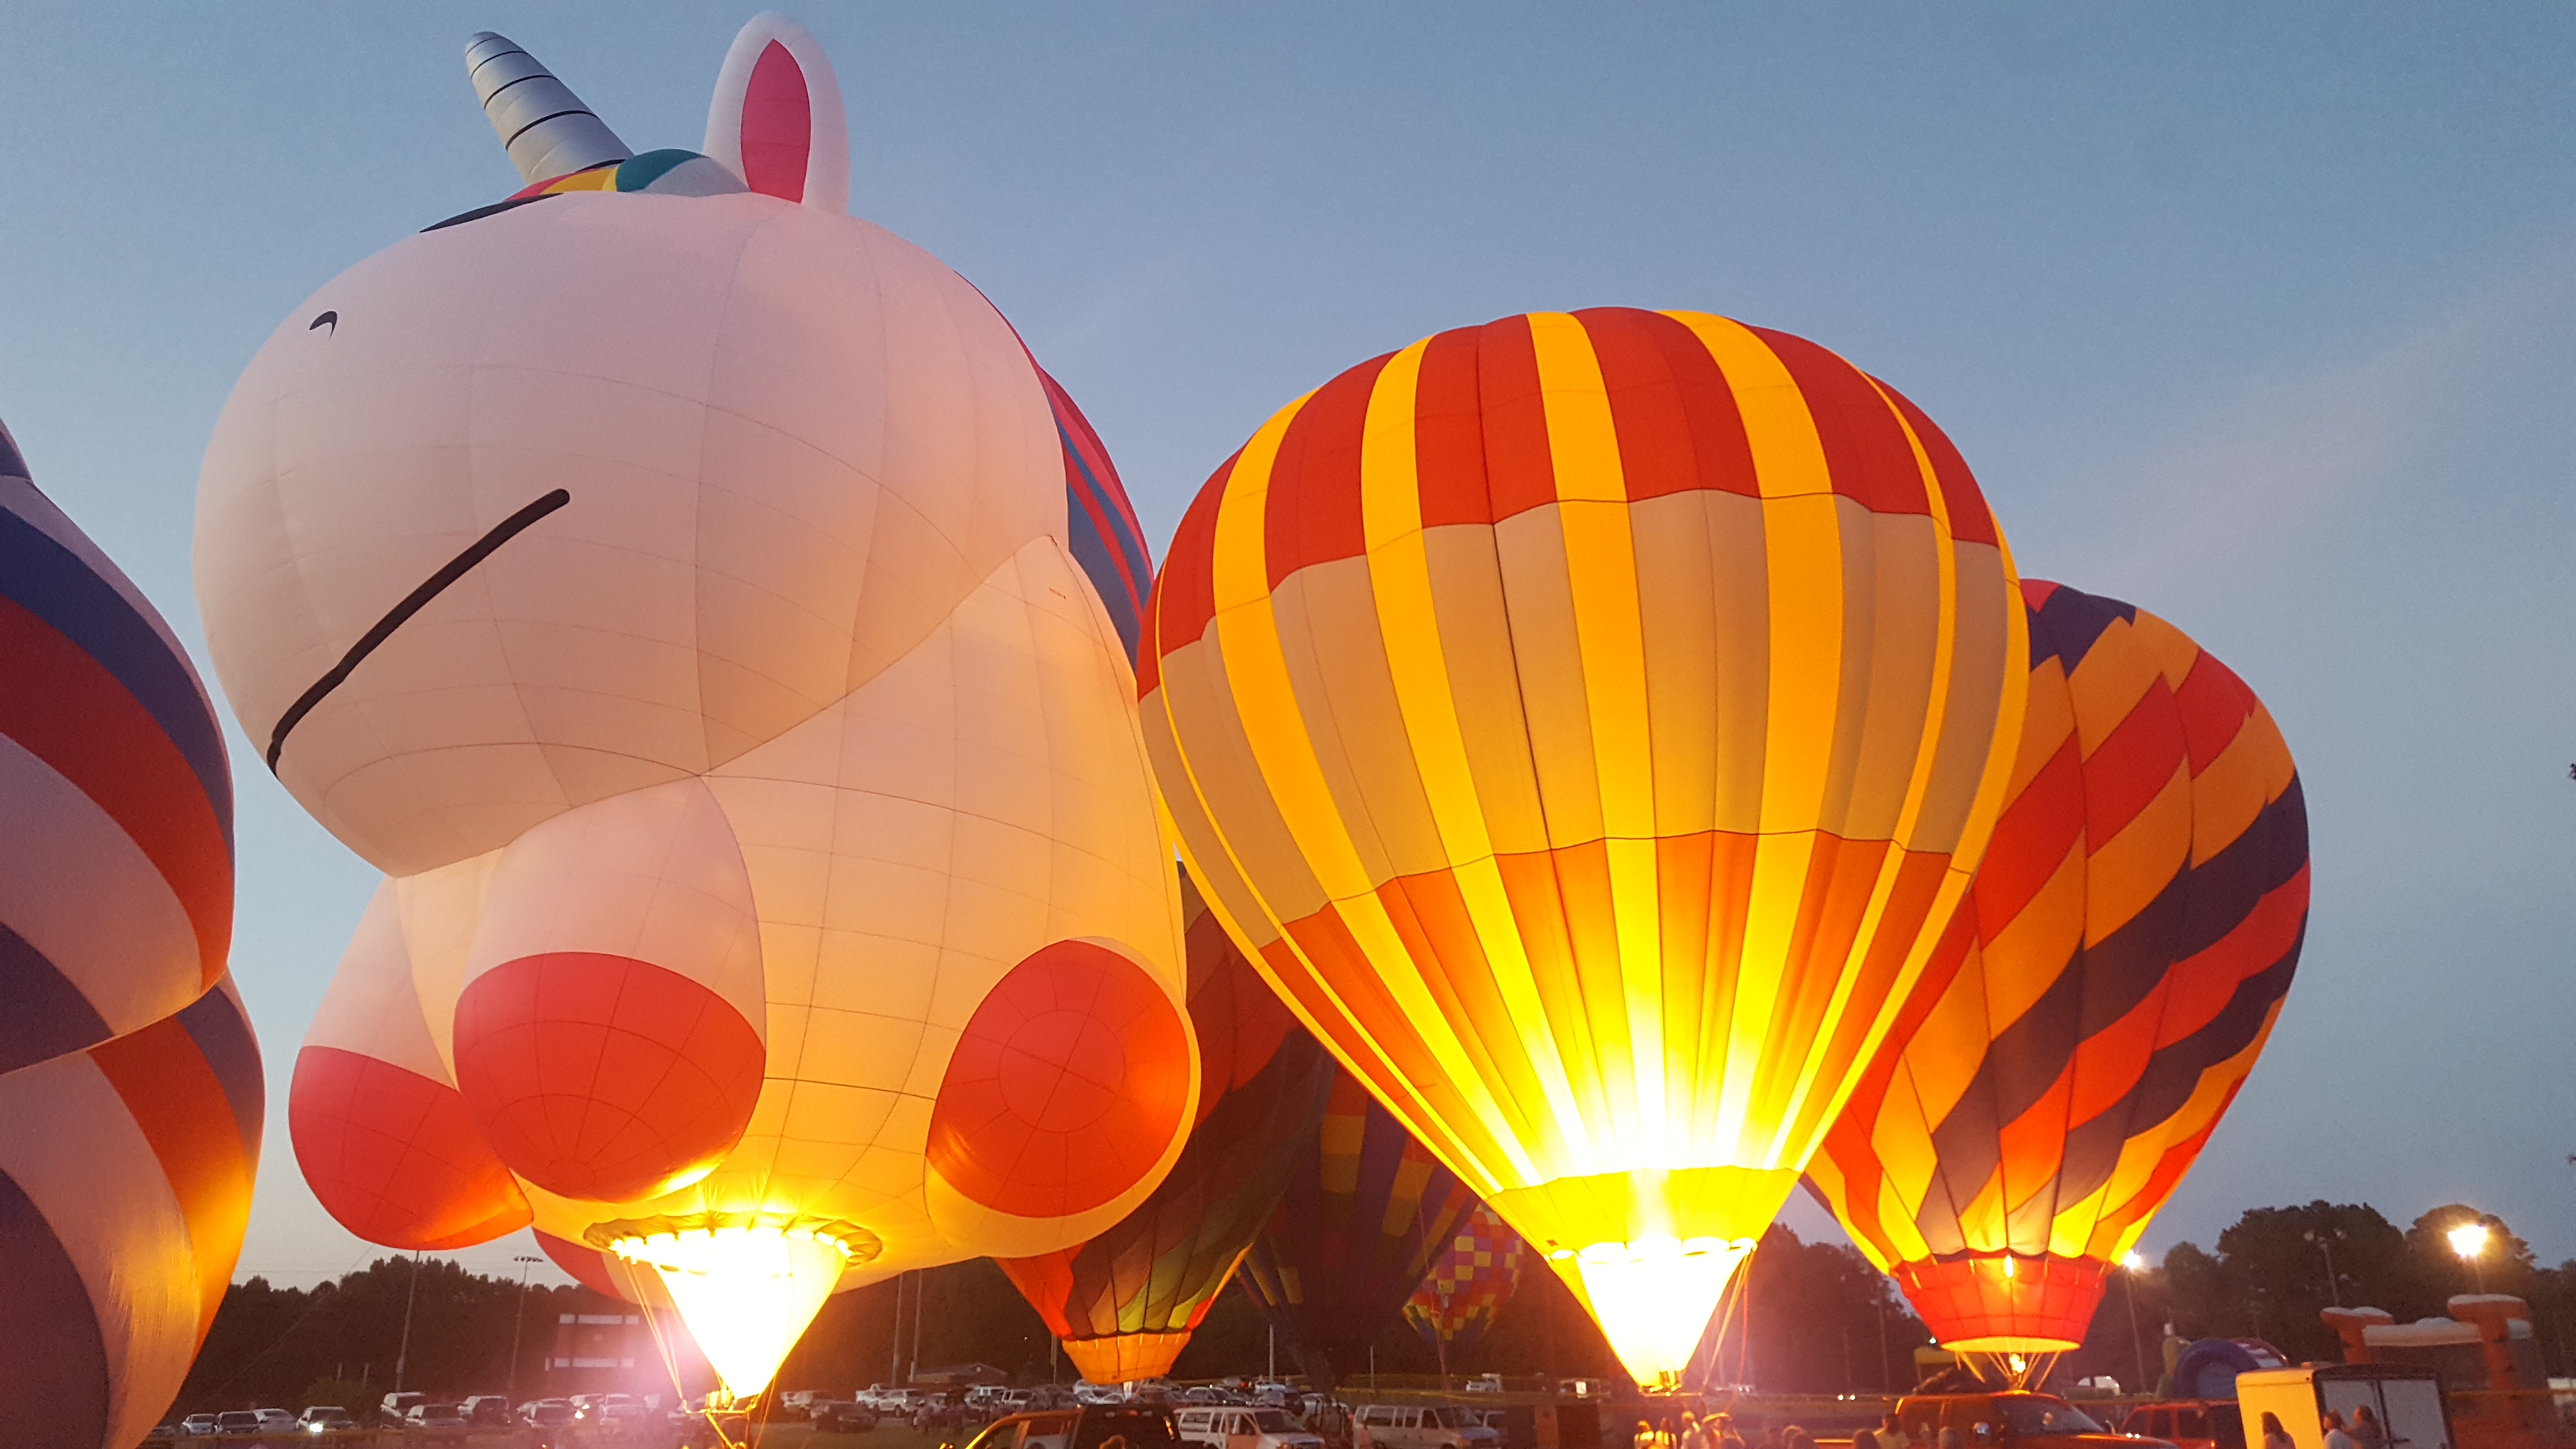
<instances>
[{"instance_id":1,"label":"blue-grey dusk sky behind the balloons","mask_svg":"<svg viewBox=\"0 0 2576 1449\"><path fill-rule=\"evenodd\" d=\"M693 147L734 5L8 10L0 418L198 645L196 467L340 268L518 180L495 28ZM1278 405L1504 312L1726 312L1960 443L2022 570L2143 603L2298 753L2316 915L2148 1248L2254 1204L2576 1256L2576 10L814 5L853 211L976 281L1157 544ZM371 1250L286 1145L371 874L232 737L270 1065L245 1271ZM1801 1227L1821 1214L1795 1209ZM466 1253L505 1269L518 1243Z\"/></svg>"}]
</instances>

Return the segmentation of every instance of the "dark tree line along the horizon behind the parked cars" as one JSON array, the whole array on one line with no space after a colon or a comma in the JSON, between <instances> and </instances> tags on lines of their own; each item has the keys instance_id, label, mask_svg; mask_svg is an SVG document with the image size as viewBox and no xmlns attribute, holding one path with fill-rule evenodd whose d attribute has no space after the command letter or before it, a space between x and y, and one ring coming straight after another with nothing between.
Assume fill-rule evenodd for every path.
<instances>
[{"instance_id":1,"label":"dark tree line along the horizon behind the parked cars","mask_svg":"<svg viewBox=\"0 0 2576 1449\"><path fill-rule=\"evenodd\" d=\"M2460 1222L2483 1222L2478 1269L2447 1243ZM2331 1276L2329 1276L2331 1258ZM2367 1204L2311 1201L2259 1207L2218 1235L2215 1248L2174 1245L2161 1263L2112 1274L2084 1348L2061 1374L2110 1374L2136 1385L2141 1364L2161 1366L2166 1325L2184 1338L2267 1338L2293 1361L2336 1359L2339 1341L2318 1320L2329 1302L2383 1307L2398 1320L2439 1315L2450 1294L2481 1284L2532 1305L2532 1328L2553 1374L2576 1372L2576 1261L2543 1269L2527 1243L2494 1214L2437 1207L2409 1227ZM417 1294L417 1297L412 1297ZM402 1320L410 1299L410 1348ZM902 1299L902 1318L896 1318ZM435 1395L569 1392L549 1387L544 1359L564 1312L623 1312L582 1287L528 1287L469 1274L446 1258L379 1258L314 1289L265 1279L224 1294L178 1413L245 1405L374 1403L394 1387ZM2130 1328L2136 1323L2136 1330ZM513 1336L518 1351L513 1356ZM1842 1243L1806 1243L1772 1227L1728 1292L1700 1364L1716 1382L1762 1392L1901 1392L1914 1382L1924 1325L1896 1284ZM1406 1323L1378 1336L1378 1372L1419 1382L1440 1356ZM891 1382L907 1366L994 1364L1020 1382L1072 1379L1054 1338L1010 1279L989 1261L951 1263L837 1294L788 1356L783 1387L850 1392ZM1226 1287L1182 1351L1185 1379L1260 1374L1270 1333L1239 1287ZM1293 1369L1278 1346L1280 1372ZM1453 1348L1453 1377L1615 1374L1618 1361L1574 1294L1543 1263L1481 1343Z\"/></svg>"}]
</instances>

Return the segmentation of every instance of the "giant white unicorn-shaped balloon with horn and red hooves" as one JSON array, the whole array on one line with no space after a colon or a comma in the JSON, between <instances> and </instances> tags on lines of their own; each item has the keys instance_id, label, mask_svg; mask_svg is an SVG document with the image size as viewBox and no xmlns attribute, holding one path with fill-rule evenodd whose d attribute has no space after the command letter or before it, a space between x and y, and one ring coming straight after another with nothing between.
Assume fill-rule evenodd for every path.
<instances>
[{"instance_id":1,"label":"giant white unicorn-shaped balloon with horn and red hooves","mask_svg":"<svg viewBox=\"0 0 2576 1449\"><path fill-rule=\"evenodd\" d=\"M526 186L289 315L198 490L224 694L384 871L289 1124L355 1232L647 1263L752 1392L835 1287L1180 1155L1144 552L1010 322L845 214L806 31L698 152L466 67Z\"/></svg>"}]
</instances>

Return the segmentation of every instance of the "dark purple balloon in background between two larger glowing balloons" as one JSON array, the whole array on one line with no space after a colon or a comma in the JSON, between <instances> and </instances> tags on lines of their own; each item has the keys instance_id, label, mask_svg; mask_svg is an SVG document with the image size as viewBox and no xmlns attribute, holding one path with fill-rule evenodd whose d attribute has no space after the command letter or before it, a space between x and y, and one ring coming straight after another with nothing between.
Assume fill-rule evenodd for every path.
<instances>
[{"instance_id":1,"label":"dark purple balloon in background between two larger glowing balloons","mask_svg":"<svg viewBox=\"0 0 2576 1449\"><path fill-rule=\"evenodd\" d=\"M1358 1078L1334 1073L1314 1147L1244 1256L1244 1292L1306 1379L1332 1392L1368 1361L1471 1207L1455 1173Z\"/></svg>"}]
</instances>

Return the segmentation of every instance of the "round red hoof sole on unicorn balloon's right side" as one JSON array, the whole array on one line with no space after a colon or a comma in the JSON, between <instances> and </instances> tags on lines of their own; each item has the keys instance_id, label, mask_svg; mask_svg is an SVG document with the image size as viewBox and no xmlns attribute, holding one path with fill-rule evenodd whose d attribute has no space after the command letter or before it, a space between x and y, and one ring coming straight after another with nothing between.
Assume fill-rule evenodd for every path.
<instances>
[{"instance_id":1,"label":"round red hoof sole on unicorn balloon's right side","mask_svg":"<svg viewBox=\"0 0 2576 1449\"><path fill-rule=\"evenodd\" d=\"M930 1109L930 1168L1015 1217L1090 1212L1154 1171L1190 1098L1190 1034L1136 962L1038 949L966 1021Z\"/></svg>"}]
</instances>

